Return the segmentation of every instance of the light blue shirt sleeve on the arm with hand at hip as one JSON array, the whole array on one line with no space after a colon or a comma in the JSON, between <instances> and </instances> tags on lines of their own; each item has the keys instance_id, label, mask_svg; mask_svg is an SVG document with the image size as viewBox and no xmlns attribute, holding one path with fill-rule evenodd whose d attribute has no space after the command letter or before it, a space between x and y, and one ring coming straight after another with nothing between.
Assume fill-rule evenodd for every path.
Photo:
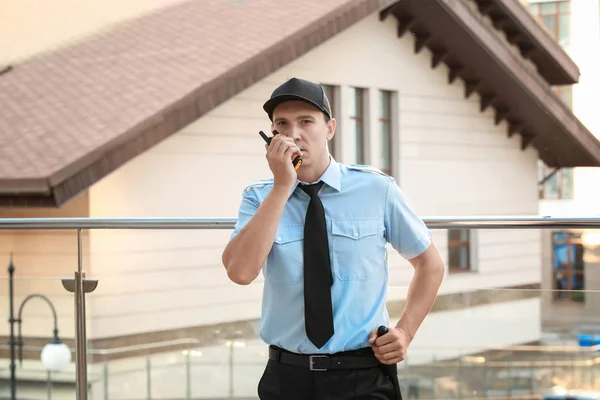
<instances>
[{"instance_id":1,"label":"light blue shirt sleeve on the arm with hand at hip","mask_svg":"<svg viewBox=\"0 0 600 400\"><path fill-rule=\"evenodd\" d=\"M431 232L393 179L388 182L384 224L386 240L407 260L422 254L431 244Z\"/></svg>"}]
</instances>

